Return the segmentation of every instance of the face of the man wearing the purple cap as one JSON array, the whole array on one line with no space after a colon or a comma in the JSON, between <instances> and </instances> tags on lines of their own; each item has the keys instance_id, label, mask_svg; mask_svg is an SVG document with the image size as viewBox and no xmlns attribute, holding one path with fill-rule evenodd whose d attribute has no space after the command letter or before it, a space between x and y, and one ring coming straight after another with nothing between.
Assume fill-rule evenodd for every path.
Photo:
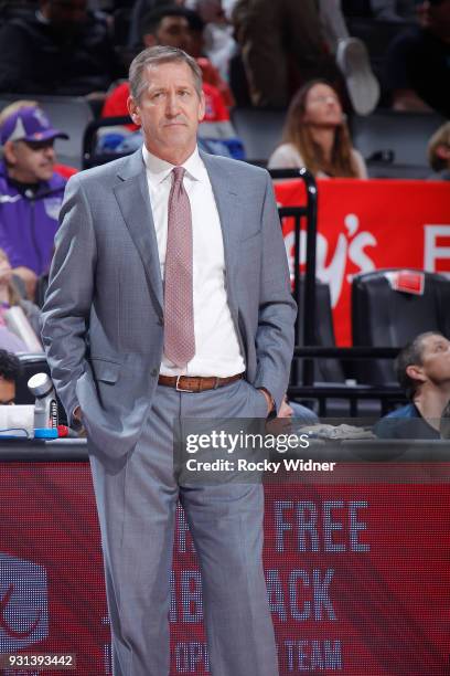
<instances>
[{"instance_id":1,"label":"face of the man wearing the purple cap","mask_svg":"<svg viewBox=\"0 0 450 676\"><path fill-rule=\"evenodd\" d=\"M54 140L46 141L7 141L4 156L8 173L23 183L49 181L52 178L55 151Z\"/></svg>"}]
</instances>

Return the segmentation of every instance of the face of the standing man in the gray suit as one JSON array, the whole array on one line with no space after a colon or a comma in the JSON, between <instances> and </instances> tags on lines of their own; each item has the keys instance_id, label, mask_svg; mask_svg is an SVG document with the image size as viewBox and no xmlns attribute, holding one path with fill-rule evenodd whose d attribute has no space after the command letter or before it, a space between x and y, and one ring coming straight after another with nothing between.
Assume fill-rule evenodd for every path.
<instances>
[{"instance_id":1,"label":"face of the standing man in the gray suit","mask_svg":"<svg viewBox=\"0 0 450 676\"><path fill-rule=\"evenodd\" d=\"M148 66L147 87L139 102L129 98L135 124L142 127L147 149L173 165L182 163L195 149L199 122L203 119L203 92L184 62Z\"/></svg>"}]
</instances>

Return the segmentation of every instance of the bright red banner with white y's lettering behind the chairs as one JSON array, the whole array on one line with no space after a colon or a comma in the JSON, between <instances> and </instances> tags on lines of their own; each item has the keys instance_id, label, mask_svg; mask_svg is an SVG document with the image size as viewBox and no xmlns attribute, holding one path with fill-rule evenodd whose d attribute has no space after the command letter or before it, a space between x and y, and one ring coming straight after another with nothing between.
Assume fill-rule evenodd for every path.
<instances>
[{"instance_id":1,"label":"bright red banner with white y's lettering behind the chairs","mask_svg":"<svg viewBox=\"0 0 450 676\"><path fill-rule=\"evenodd\" d=\"M450 274L450 184L441 181L318 181L317 276L330 285L338 345L351 345L352 276L382 267ZM279 205L304 204L301 180L278 182ZM293 265L293 221L283 234ZM302 237L306 233L302 233ZM304 239L301 243L304 267Z\"/></svg>"}]
</instances>

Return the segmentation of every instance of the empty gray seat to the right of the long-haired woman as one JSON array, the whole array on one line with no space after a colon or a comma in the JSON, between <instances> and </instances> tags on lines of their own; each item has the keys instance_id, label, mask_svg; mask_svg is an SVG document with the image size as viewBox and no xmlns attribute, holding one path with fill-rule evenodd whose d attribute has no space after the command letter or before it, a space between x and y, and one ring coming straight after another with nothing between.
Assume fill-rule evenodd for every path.
<instances>
[{"instance_id":1,"label":"empty gray seat to the right of the long-haired woman","mask_svg":"<svg viewBox=\"0 0 450 676\"><path fill-rule=\"evenodd\" d=\"M353 145L367 161L373 178L426 178L431 172L427 144L443 124L437 113L381 109L351 120Z\"/></svg>"}]
</instances>

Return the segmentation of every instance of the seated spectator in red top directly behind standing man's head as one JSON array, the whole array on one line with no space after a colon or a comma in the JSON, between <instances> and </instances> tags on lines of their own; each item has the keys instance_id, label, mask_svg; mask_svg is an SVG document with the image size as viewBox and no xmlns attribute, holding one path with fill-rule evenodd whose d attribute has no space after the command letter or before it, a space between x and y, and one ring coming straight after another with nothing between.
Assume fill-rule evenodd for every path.
<instances>
[{"instance_id":1,"label":"seated spectator in red top directly behind standing man's head","mask_svg":"<svg viewBox=\"0 0 450 676\"><path fill-rule=\"evenodd\" d=\"M182 8L165 7L150 12L142 24L142 41L146 47L157 44L174 46L191 53L191 30L186 12ZM192 55L192 54L191 54ZM199 64L200 65L200 64ZM204 73L204 71L202 71ZM107 97L103 117L128 115L129 97L128 82L120 84ZM199 145L213 155L224 155L243 159L244 148L229 119L228 110L219 91L207 82L203 82L205 96L205 117L199 128ZM137 129L132 126L131 129ZM140 131L128 136L126 130L106 130L100 137L97 150L130 152L142 145Z\"/></svg>"}]
</instances>

